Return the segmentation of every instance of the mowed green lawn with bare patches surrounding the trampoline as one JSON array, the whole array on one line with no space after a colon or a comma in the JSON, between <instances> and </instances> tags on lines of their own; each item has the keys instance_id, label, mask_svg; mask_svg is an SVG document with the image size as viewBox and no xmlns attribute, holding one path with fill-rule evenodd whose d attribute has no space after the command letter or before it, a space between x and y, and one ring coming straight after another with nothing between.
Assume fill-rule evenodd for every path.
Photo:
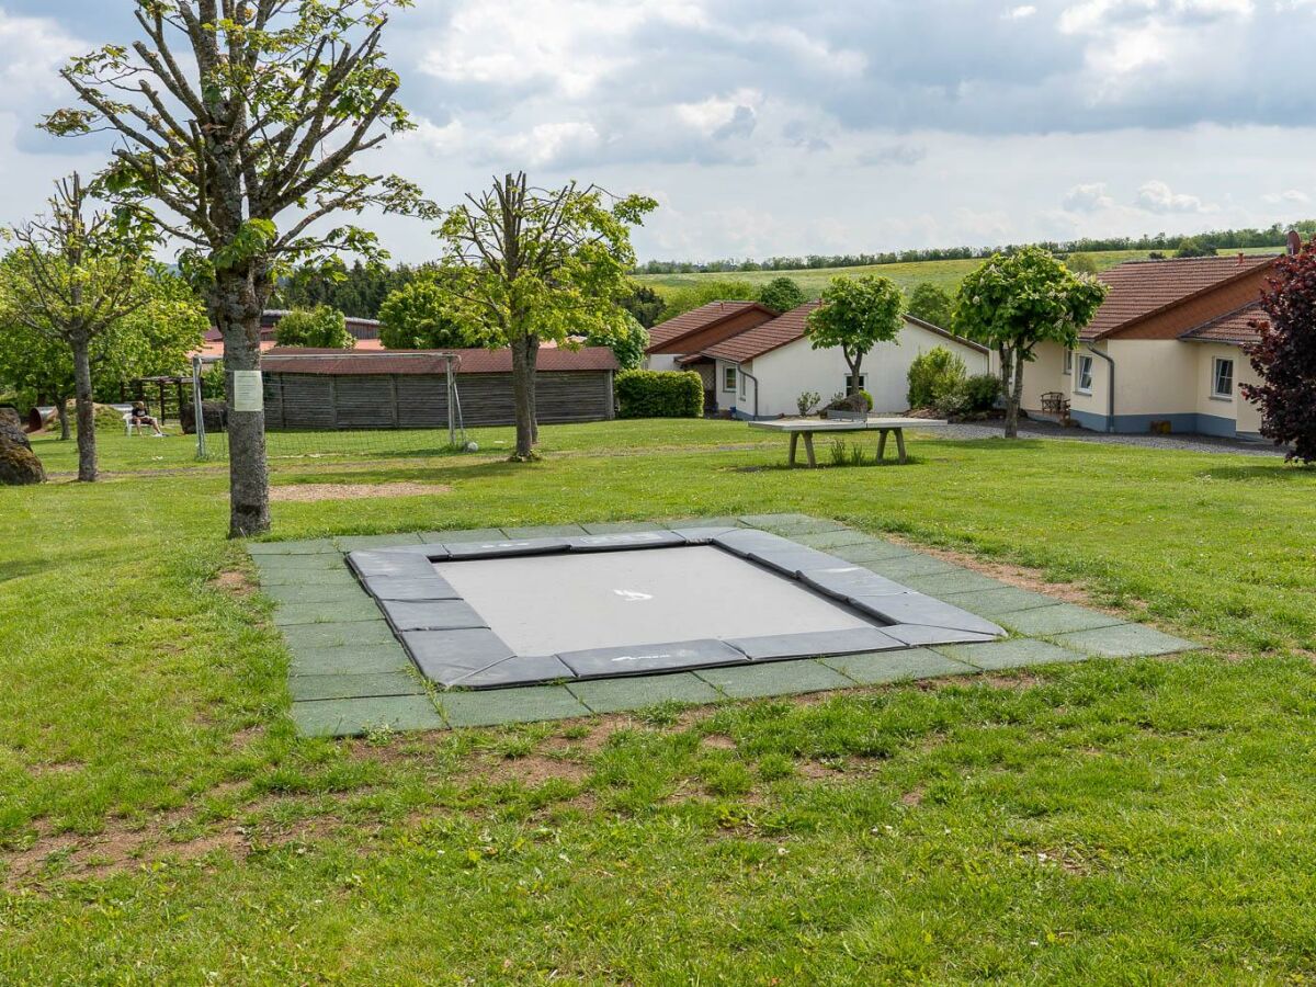
<instances>
[{"instance_id":1,"label":"mowed green lawn with bare patches surrounding the trampoline","mask_svg":"<svg viewBox=\"0 0 1316 987\"><path fill-rule=\"evenodd\" d=\"M301 741L222 471L108 436L78 486L42 442L57 482L0 490L0 982L1316 978L1316 472L923 437L787 471L703 421L545 428L530 466L391 442L275 482L446 492L279 503L275 537L797 511L1208 647Z\"/></svg>"}]
</instances>

